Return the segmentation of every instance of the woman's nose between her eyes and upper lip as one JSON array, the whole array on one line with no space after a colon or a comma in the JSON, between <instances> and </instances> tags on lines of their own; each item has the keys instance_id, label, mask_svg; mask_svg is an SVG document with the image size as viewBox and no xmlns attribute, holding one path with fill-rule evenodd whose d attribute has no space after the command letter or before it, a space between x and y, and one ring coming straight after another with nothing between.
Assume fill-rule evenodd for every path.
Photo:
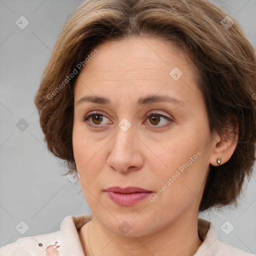
<instances>
[{"instance_id":1,"label":"woman's nose between her eyes and upper lip","mask_svg":"<svg viewBox=\"0 0 256 256\"><path fill-rule=\"evenodd\" d=\"M141 144L132 126L126 131L117 126L116 134L109 143L107 165L120 172L139 170L142 167Z\"/></svg>"}]
</instances>

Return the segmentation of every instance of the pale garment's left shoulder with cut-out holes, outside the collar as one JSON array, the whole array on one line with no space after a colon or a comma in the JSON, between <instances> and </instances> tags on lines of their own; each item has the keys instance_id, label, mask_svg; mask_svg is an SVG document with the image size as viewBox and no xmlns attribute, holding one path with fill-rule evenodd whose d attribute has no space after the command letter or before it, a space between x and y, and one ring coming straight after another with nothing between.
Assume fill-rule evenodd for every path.
<instances>
[{"instance_id":1,"label":"pale garment's left shoulder with cut-out holes, outside the collar","mask_svg":"<svg viewBox=\"0 0 256 256\"><path fill-rule=\"evenodd\" d=\"M45 256L52 249L58 255L60 231L18 238L15 242L0 247L0 256Z\"/></svg>"}]
</instances>

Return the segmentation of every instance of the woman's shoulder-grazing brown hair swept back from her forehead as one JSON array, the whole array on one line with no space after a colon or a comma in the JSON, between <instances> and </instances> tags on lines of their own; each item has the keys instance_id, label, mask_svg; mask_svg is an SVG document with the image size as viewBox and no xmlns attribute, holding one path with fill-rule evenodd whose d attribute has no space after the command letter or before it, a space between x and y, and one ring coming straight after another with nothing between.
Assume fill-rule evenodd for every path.
<instances>
[{"instance_id":1,"label":"woman's shoulder-grazing brown hair swept back from her forehead","mask_svg":"<svg viewBox=\"0 0 256 256\"><path fill-rule=\"evenodd\" d=\"M211 134L232 132L235 121L239 125L230 159L210 166L199 211L237 205L243 180L250 177L255 160L256 56L238 22L226 16L207 0L82 2L60 32L35 95L48 149L64 159L69 170L76 170L73 88L80 70L77 65L86 64L84 59L96 45L130 36L161 36L177 43L197 67ZM73 76L74 70L78 74Z\"/></svg>"}]
</instances>

